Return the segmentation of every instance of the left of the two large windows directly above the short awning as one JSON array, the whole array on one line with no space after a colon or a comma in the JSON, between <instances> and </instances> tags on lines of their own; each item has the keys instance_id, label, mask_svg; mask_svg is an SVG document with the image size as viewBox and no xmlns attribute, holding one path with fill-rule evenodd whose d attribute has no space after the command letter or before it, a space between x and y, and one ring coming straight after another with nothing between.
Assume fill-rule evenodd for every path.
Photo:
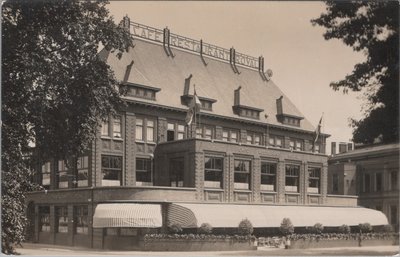
<instances>
[{"instance_id":1,"label":"left of the two large windows directly above the short awning","mask_svg":"<svg viewBox=\"0 0 400 257\"><path fill-rule=\"evenodd\" d=\"M102 186L120 186L122 184L122 157L101 157Z\"/></svg>"}]
</instances>

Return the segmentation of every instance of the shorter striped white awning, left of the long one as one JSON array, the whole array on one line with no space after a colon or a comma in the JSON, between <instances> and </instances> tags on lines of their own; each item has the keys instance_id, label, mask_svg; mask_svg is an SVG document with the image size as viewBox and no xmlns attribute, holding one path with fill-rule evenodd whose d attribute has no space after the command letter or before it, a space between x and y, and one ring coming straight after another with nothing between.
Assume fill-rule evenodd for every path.
<instances>
[{"instance_id":1,"label":"shorter striped white awning, left of the long one","mask_svg":"<svg viewBox=\"0 0 400 257\"><path fill-rule=\"evenodd\" d=\"M93 215L94 228L162 226L159 204L110 203L98 204Z\"/></svg>"}]
</instances>

